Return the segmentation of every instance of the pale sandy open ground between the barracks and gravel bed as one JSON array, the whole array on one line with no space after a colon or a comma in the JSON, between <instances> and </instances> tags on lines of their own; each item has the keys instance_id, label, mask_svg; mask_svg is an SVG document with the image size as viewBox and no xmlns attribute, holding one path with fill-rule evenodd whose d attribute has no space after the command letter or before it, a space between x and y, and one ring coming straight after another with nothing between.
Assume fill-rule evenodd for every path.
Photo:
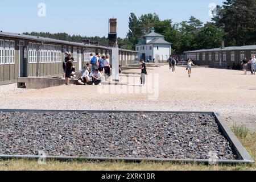
<instances>
[{"instance_id":1,"label":"pale sandy open ground between the barracks and gravel bed","mask_svg":"<svg viewBox=\"0 0 256 182\"><path fill-rule=\"evenodd\" d=\"M138 86L140 77L133 76L130 86L122 87L63 85L26 92L0 89L0 109L218 111L229 126L244 123L256 131L256 76L193 68L189 78L184 67L176 67L175 72L168 65L148 68L144 87ZM126 77L121 80L127 82Z\"/></svg>"}]
</instances>

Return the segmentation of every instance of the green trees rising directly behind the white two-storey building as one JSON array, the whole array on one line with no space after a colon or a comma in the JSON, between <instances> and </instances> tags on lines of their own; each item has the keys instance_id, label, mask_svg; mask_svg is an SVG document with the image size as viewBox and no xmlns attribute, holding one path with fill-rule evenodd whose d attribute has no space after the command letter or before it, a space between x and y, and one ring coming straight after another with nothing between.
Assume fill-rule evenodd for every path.
<instances>
[{"instance_id":1,"label":"green trees rising directly behind the white two-storey building","mask_svg":"<svg viewBox=\"0 0 256 182\"><path fill-rule=\"evenodd\" d=\"M134 13L131 13L126 46L135 49L139 38L148 34L152 27L155 28L155 32L164 35L167 42L172 43L174 54L220 47L224 37L223 31L218 30L214 24L208 23L203 26L203 22L195 16L191 16L188 21L172 23L171 19L160 20L156 14L145 14L137 18Z\"/></svg>"}]
</instances>

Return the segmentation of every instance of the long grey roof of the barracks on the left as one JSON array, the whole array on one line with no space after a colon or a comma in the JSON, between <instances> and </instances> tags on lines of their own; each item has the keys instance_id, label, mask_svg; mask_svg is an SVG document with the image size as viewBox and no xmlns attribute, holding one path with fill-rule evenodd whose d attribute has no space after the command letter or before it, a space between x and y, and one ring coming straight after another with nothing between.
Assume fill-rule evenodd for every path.
<instances>
[{"instance_id":1,"label":"long grey roof of the barracks on the left","mask_svg":"<svg viewBox=\"0 0 256 182\"><path fill-rule=\"evenodd\" d=\"M80 47L88 47L88 48L102 48L102 49L111 49L111 47L105 47L105 46L96 46L91 44L85 44L85 43L77 43L77 42L69 42L65 40L57 40L57 39L51 39L51 38L43 38L40 36L32 36L32 35L24 35L24 34L16 34L16 33L10 33L10 32L0 32L0 36L7 37L7 38L19 38L19 39L27 39L27 40L35 40L39 42L44 43L57 43L57 44L68 44L71 46L80 46ZM129 52L137 52L137 51L131 51L126 49L119 49L120 51L129 51Z\"/></svg>"}]
</instances>

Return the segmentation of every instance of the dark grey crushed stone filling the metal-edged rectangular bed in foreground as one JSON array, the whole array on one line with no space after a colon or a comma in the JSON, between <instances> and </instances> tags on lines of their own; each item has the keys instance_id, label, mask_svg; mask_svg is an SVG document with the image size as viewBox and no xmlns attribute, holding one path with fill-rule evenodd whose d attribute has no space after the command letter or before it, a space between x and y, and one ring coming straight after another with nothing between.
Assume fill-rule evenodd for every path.
<instances>
[{"instance_id":1,"label":"dark grey crushed stone filling the metal-edged rectangular bed in foreground","mask_svg":"<svg viewBox=\"0 0 256 182\"><path fill-rule=\"evenodd\" d=\"M0 153L235 159L212 115L0 113Z\"/></svg>"}]
</instances>

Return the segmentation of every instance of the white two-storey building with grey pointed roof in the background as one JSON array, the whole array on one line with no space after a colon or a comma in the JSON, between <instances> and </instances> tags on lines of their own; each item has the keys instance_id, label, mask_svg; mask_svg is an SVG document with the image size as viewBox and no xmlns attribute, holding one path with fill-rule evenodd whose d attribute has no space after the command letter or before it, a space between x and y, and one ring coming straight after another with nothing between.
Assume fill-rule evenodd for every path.
<instances>
[{"instance_id":1,"label":"white two-storey building with grey pointed roof in the background","mask_svg":"<svg viewBox=\"0 0 256 182\"><path fill-rule=\"evenodd\" d=\"M167 61L171 56L171 43L164 40L164 36L155 33L152 28L151 33L142 36L136 45L139 59L150 62L158 58L159 61Z\"/></svg>"}]
</instances>

